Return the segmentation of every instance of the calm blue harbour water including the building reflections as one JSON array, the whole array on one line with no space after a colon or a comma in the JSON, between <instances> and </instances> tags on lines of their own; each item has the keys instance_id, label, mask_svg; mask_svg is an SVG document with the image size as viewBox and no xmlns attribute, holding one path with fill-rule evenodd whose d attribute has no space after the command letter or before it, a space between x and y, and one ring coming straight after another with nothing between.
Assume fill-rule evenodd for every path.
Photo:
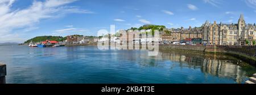
<instances>
[{"instance_id":1,"label":"calm blue harbour water including the building reflections","mask_svg":"<svg viewBox=\"0 0 256 95\"><path fill-rule=\"evenodd\" d=\"M95 46L0 46L0 61L7 64L7 83L244 83L256 72L229 56L160 52L153 57Z\"/></svg>"}]
</instances>

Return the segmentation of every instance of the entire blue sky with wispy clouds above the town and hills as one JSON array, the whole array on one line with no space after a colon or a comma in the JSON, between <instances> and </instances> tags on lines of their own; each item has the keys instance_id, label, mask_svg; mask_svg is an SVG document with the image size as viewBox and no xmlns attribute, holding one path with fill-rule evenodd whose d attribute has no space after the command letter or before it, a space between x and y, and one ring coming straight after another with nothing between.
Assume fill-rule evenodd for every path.
<instances>
[{"instance_id":1,"label":"entire blue sky with wispy clouds above the town and hills","mask_svg":"<svg viewBox=\"0 0 256 95\"><path fill-rule=\"evenodd\" d=\"M256 0L1 0L0 43L35 36L97 35L101 29L159 24L200 27L205 20L256 22Z\"/></svg>"}]
</instances>

